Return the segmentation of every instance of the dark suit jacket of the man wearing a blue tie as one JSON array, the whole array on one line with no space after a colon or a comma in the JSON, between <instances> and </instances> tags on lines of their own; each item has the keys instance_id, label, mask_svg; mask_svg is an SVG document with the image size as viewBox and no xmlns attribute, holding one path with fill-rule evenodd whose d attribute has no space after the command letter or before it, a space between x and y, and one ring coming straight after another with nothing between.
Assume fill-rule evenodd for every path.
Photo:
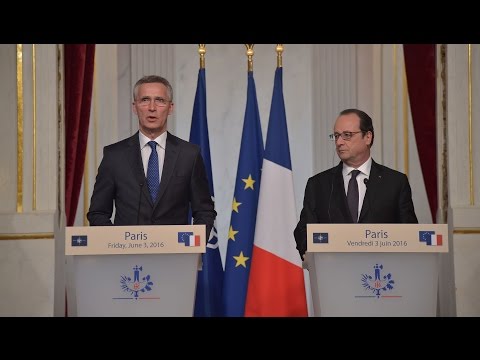
<instances>
[{"instance_id":1,"label":"dark suit jacket of the man wearing a blue tie","mask_svg":"<svg viewBox=\"0 0 480 360\"><path fill-rule=\"evenodd\" d=\"M90 225L186 225L189 206L194 224L207 225L217 213L210 196L200 148L167 133L160 192L152 202L143 170L138 131L106 146L87 214Z\"/></svg>"}]
</instances>

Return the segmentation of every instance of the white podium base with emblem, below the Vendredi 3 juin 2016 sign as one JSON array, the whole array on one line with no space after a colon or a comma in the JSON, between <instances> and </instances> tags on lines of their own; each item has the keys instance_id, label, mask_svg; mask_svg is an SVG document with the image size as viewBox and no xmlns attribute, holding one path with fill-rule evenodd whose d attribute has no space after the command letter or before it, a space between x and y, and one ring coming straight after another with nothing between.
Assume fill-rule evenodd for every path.
<instances>
[{"instance_id":1,"label":"white podium base with emblem, below the Vendredi 3 juin 2016 sign","mask_svg":"<svg viewBox=\"0 0 480 360\"><path fill-rule=\"evenodd\" d=\"M315 316L436 316L436 253L308 255Z\"/></svg>"}]
</instances>

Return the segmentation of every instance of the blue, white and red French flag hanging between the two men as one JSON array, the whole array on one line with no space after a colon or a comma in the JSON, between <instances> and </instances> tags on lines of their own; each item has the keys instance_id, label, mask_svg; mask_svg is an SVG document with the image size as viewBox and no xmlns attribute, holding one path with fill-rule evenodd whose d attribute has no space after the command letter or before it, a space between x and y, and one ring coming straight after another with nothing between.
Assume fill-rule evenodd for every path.
<instances>
[{"instance_id":1,"label":"blue, white and red French flag hanging between the two men","mask_svg":"<svg viewBox=\"0 0 480 360\"><path fill-rule=\"evenodd\" d=\"M297 212L282 69L275 71L245 316L308 316L302 262L292 230Z\"/></svg>"}]
</instances>

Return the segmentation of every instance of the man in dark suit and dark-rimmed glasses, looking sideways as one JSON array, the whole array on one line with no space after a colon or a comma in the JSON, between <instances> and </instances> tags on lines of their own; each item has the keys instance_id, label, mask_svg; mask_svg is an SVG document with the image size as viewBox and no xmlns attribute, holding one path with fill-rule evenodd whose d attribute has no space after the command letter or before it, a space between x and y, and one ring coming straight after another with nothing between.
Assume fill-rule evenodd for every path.
<instances>
[{"instance_id":1,"label":"man in dark suit and dark-rimmed glasses, looking sideways","mask_svg":"<svg viewBox=\"0 0 480 360\"><path fill-rule=\"evenodd\" d=\"M370 116L358 109L342 111L332 136L341 161L308 179L294 230L302 260L307 250L307 224L418 223L407 176L377 164L370 156L374 138ZM349 188L355 196L348 195Z\"/></svg>"}]
</instances>

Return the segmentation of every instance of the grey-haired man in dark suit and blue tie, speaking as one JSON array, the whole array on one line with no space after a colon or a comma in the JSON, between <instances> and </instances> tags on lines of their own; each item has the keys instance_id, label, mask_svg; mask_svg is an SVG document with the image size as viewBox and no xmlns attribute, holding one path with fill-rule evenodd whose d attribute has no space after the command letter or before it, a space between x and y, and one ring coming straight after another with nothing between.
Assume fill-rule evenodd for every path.
<instances>
[{"instance_id":1,"label":"grey-haired man in dark suit and blue tie, speaking","mask_svg":"<svg viewBox=\"0 0 480 360\"><path fill-rule=\"evenodd\" d=\"M145 76L133 89L139 131L106 146L87 213L90 225L206 225L217 213L200 148L167 131L173 90L160 76ZM115 206L115 219L111 217Z\"/></svg>"}]
</instances>

